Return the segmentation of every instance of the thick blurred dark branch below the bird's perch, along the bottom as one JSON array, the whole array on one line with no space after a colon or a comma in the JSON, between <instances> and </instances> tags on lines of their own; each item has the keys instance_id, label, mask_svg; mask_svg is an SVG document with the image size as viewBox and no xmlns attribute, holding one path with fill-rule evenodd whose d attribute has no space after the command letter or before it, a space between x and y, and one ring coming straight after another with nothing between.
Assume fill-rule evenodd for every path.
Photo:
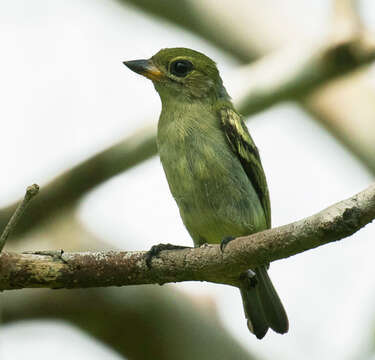
<instances>
[{"instance_id":1,"label":"thick blurred dark branch below the bird's perch, along the bottom","mask_svg":"<svg viewBox=\"0 0 375 360\"><path fill-rule=\"evenodd\" d=\"M208 299L194 303L165 286L31 289L2 294L2 301L4 323L68 321L129 359L255 358L221 326Z\"/></svg>"}]
</instances>

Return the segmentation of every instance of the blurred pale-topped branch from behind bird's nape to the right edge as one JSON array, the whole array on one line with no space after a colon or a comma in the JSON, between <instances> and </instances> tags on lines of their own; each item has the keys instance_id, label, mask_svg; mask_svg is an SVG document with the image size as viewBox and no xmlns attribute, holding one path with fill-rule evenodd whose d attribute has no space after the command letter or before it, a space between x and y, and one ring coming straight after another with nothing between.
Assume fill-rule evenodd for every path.
<instances>
[{"instance_id":1,"label":"blurred pale-topped branch from behind bird's nape to the right edge","mask_svg":"<svg viewBox=\"0 0 375 360\"><path fill-rule=\"evenodd\" d=\"M238 71L246 87L235 99L236 106L244 116L254 115L281 101L301 99L374 60L375 41L368 37L290 46Z\"/></svg>"}]
</instances>

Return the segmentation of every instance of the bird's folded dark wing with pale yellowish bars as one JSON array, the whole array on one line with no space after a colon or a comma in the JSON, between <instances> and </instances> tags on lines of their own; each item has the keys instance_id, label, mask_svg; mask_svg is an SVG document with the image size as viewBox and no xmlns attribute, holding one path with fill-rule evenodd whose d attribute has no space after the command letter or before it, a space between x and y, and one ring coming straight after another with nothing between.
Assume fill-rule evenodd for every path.
<instances>
[{"instance_id":1,"label":"bird's folded dark wing with pale yellowish bars","mask_svg":"<svg viewBox=\"0 0 375 360\"><path fill-rule=\"evenodd\" d=\"M258 149L241 116L233 108L230 106L221 106L218 112L228 143L240 160L247 177L258 194L266 216L267 226L270 228L270 197Z\"/></svg>"}]
</instances>

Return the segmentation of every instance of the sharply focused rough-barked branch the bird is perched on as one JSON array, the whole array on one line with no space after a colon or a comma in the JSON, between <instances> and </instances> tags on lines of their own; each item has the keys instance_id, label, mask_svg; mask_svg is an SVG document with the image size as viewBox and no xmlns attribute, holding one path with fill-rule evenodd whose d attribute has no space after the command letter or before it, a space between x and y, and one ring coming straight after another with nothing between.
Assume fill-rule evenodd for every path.
<instances>
[{"instance_id":1,"label":"sharply focused rough-barked branch the bird is perched on","mask_svg":"<svg viewBox=\"0 0 375 360\"><path fill-rule=\"evenodd\" d=\"M237 238L226 247L164 251L149 270L145 252L2 253L0 290L82 288L211 281L237 285L247 268L287 258L352 235L375 218L375 184L303 220Z\"/></svg>"}]
</instances>

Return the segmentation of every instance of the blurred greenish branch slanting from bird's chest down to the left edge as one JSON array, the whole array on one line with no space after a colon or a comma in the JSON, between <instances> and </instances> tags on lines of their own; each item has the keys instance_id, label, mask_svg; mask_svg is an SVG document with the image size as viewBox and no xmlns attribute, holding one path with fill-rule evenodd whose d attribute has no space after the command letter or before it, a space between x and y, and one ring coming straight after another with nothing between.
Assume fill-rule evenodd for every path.
<instances>
[{"instance_id":1,"label":"blurred greenish branch slanting from bird's chest down to the left edge","mask_svg":"<svg viewBox=\"0 0 375 360\"><path fill-rule=\"evenodd\" d=\"M44 186L16 234L32 229L64 208L75 204L87 191L156 154L155 126L137 131L123 141L94 155ZM0 211L0 228L7 223L17 203Z\"/></svg>"}]
</instances>

